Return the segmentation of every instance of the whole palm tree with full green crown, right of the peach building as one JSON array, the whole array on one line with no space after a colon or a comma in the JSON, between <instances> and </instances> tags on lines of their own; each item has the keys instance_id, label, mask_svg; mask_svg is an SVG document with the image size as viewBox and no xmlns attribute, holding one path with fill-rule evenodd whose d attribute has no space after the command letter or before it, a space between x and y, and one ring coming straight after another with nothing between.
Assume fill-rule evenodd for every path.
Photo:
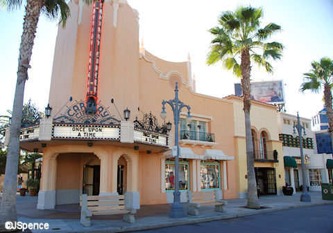
<instances>
[{"instance_id":1,"label":"whole palm tree with full green crown, right of the peach building","mask_svg":"<svg viewBox=\"0 0 333 233\"><path fill-rule=\"evenodd\" d=\"M208 65L221 61L225 68L232 69L234 75L241 77L246 129L248 172L248 203L246 207L248 208L259 207L250 123L251 62L264 66L268 73L273 73L273 67L267 62L267 59L280 59L283 50L282 44L276 41L266 42L266 39L275 32L279 32L281 27L271 23L264 28L260 28L262 17L262 8L251 6L241 6L234 12L222 12L219 16L221 27L216 26L209 30L214 39L211 41L210 52L207 54L206 60Z\"/></svg>"}]
</instances>

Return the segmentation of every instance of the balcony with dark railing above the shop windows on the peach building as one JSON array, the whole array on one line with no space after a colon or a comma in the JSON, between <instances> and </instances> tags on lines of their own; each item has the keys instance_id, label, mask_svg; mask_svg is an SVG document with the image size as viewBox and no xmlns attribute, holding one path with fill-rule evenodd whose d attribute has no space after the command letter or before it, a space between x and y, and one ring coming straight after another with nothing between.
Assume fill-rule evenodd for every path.
<instances>
[{"instance_id":1,"label":"balcony with dark railing above the shop windows on the peach building","mask_svg":"<svg viewBox=\"0 0 333 233\"><path fill-rule=\"evenodd\" d=\"M200 131L180 130L180 145L190 144L192 147L200 145L201 147L217 145L214 133L205 133Z\"/></svg>"}]
</instances>

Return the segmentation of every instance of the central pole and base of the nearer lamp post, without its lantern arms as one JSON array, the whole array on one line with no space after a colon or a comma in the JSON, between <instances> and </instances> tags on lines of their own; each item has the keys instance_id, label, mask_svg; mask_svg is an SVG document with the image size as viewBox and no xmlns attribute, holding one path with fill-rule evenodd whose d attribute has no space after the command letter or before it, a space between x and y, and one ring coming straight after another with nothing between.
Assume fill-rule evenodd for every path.
<instances>
[{"instance_id":1,"label":"central pole and base of the nearer lamp post, without its lantern arms","mask_svg":"<svg viewBox=\"0 0 333 233\"><path fill-rule=\"evenodd\" d=\"M175 89L175 108L173 110L173 120L175 121L175 146L177 147L177 155L175 156L175 191L173 192L173 205L171 206L169 216L171 218L183 218L185 217L184 208L180 204L180 192L179 192L179 138L178 138L178 126L179 126L179 103L178 103L178 83L176 82Z\"/></svg>"}]
</instances>

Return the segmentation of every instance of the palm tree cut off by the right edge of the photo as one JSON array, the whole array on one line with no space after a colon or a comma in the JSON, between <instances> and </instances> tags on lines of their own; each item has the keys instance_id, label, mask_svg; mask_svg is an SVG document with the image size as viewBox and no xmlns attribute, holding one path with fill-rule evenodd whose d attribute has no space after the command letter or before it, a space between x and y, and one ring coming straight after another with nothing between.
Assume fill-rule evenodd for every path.
<instances>
[{"instance_id":1,"label":"palm tree cut off by the right edge of the photo","mask_svg":"<svg viewBox=\"0 0 333 233\"><path fill-rule=\"evenodd\" d=\"M305 82L300 86L300 91L310 90L318 93L324 88L324 102L328 119L328 132L333 145L333 110L332 110L332 87L333 87L333 60L323 57L320 62L311 62L311 70L304 73Z\"/></svg>"}]
</instances>

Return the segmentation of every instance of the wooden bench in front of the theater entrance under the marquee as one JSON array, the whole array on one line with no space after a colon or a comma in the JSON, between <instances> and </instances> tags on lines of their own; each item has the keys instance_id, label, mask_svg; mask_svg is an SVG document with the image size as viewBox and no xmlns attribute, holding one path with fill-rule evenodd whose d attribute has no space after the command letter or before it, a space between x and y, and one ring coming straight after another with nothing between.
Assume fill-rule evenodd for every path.
<instances>
[{"instance_id":1,"label":"wooden bench in front of the theater entrance under the marquee","mask_svg":"<svg viewBox=\"0 0 333 233\"><path fill-rule=\"evenodd\" d=\"M126 209L123 195L114 196L80 196L80 223L89 227L90 217L93 215L123 214L123 221L135 223L136 209Z\"/></svg>"}]
</instances>

